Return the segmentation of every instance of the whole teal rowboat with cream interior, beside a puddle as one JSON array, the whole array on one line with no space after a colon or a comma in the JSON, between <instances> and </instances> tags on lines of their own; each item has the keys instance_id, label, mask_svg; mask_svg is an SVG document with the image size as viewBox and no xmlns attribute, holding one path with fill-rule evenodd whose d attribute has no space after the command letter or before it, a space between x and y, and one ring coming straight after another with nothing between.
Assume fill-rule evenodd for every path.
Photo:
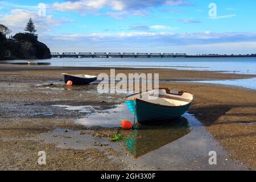
<instances>
[{"instance_id":1,"label":"whole teal rowboat with cream interior, beside a puddle","mask_svg":"<svg viewBox=\"0 0 256 182\"><path fill-rule=\"evenodd\" d=\"M191 105L193 95L184 91L154 89L124 98L138 123L149 125L170 121L183 115Z\"/></svg>"}]
</instances>

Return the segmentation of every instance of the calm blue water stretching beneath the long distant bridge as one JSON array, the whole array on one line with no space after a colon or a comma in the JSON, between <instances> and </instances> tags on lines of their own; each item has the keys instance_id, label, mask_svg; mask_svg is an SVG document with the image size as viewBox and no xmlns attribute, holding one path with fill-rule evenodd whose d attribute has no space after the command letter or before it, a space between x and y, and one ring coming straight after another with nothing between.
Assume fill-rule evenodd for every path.
<instances>
[{"instance_id":1,"label":"calm blue water stretching beneath the long distant bridge","mask_svg":"<svg viewBox=\"0 0 256 182\"><path fill-rule=\"evenodd\" d=\"M13 60L10 62L25 60ZM256 57L126 57L126 58L52 58L39 60L51 66L173 68L197 71L220 71L256 75Z\"/></svg>"}]
</instances>

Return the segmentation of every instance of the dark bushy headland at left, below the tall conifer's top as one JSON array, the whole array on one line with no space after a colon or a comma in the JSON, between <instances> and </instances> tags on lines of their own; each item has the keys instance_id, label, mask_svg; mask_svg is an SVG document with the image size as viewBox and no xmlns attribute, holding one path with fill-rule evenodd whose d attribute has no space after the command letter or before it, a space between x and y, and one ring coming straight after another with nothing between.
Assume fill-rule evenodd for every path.
<instances>
[{"instance_id":1,"label":"dark bushy headland at left, below the tall conifer's top","mask_svg":"<svg viewBox=\"0 0 256 182\"><path fill-rule=\"evenodd\" d=\"M18 33L12 39L6 39L0 32L0 60L49 58L51 51L38 41L38 36Z\"/></svg>"}]
</instances>

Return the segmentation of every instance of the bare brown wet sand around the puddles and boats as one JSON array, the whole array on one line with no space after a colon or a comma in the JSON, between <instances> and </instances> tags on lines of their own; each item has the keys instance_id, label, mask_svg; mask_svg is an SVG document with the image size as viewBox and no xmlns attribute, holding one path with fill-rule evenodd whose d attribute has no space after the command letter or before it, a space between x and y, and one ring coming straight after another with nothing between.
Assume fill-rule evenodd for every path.
<instances>
[{"instance_id":1,"label":"bare brown wet sand around the puddles and boats","mask_svg":"<svg viewBox=\"0 0 256 182\"><path fill-rule=\"evenodd\" d=\"M148 169L127 165L123 156L130 155L109 144L105 147L56 147L56 141L46 141L45 134L55 135L60 129L66 134L81 133L81 136L111 137L122 133L130 136L131 131L86 127L76 124L77 118L86 114L112 108L123 103L125 94L98 94L97 84L86 86L56 86L63 84L61 73L86 73L98 75L109 73L109 68L61 68L28 65L1 64L0 67L0 169L84 169L118 170ZM256 169L256 92L232 86L195 84L195 80L226 80L251 78L251 75L230 73L177 71L175 69L132 69L118 68L116 73L159 73L161 87L188 90L195 95L189 113L206 127L213 138L227 152L228 158L245 167L230 169ZM67 110L69 106L92 106L86 112ZM97 109L95 109L97 108ZM67 136L66 136L67 137ZM75 138L75 137L73 137ZM68 140L57 134L57 143ZM102 141L101 141L102 142ZM68 143L63 145L68 146ZM96 142L97 143L97 142ZM119 144L117 144L118 146ZM47 153L47 165L40 166L38 151ZM156 151L157 152L157 151ZM123 159L122 159L123 158ZM145 156L146 158L146 156ZM139 159L142 160L142 159ZM154 166L154 165L153 165ZM159 169L187 169L186 166ZM158 169L158 168L150 168ZM195 169L195 168L188 168ZM218 169L218 168L214 168ZM220 167L219 169L224 169ZM226 169L226 168L225 168Z\"/></svg>"}]
</instances>

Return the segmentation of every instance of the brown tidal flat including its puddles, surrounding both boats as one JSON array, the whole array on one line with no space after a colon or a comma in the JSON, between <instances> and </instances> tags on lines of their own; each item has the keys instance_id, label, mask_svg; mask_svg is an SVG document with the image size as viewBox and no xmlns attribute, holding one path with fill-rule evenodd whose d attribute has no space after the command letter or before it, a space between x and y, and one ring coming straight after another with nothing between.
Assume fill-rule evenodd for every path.
<instances>
[{"instance_id":1,"label":"brown tidal flat including its puddles, surrounding both boats","mask_svg":"<svg viewBox=\"0 0 256 182\"><path fill-rule=\"evenodd\" d=\"M1 64L0 169L256 169L255 90L189 82L254 75L116 68L116 73L159 73L160 87L187 90L195 96L177 125L126 131L118 127L121 119L130 117L122 105L125 93L99 94L97 82L65 86L63 72L98 75L109 74L110 68ZM114 134L125 139L112 142ZM208 163L212 150L217 151L217 165ZM39 151L46 151L46 165L38 164Z\"/></svg>"}]
</instances>

